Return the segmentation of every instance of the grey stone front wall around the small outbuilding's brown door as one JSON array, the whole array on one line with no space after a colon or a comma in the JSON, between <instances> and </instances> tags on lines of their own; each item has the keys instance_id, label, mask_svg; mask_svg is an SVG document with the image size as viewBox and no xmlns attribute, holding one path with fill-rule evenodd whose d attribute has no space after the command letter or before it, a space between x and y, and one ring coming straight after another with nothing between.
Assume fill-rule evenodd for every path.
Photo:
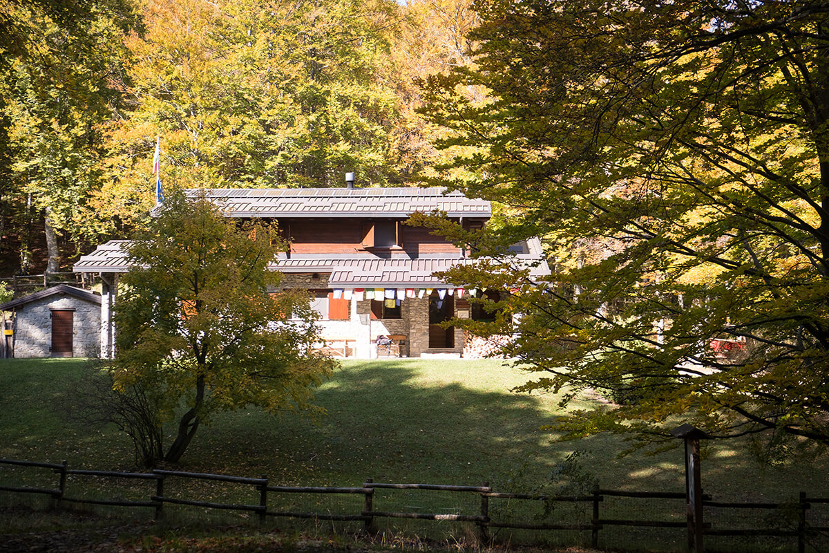
<instances>
[{"instance_id":1,"label":"grey stone front wall around the small outbuilding's brown door","mask_svg":"<svg viewBox=\"0 0 829 553\"><path fill-rule=\"evenodd\" d=\"M101 306L85 299L60 294L26 303L17 308L14 357L51 357L52 310L74 311L72 316L73 357L98 357Z\"/></svg>"}]
</instances>

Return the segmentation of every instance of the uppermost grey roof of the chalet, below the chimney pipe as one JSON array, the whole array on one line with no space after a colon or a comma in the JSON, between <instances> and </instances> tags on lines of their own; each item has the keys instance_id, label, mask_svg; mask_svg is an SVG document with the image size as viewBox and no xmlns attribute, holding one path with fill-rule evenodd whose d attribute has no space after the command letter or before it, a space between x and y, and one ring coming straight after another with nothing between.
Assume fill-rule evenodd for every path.
<instances>
[{"instance_id":1,"label":"uppermost grey roof of the chalet, below the chimney pipe","mask_svg":"<svg viewBox=\"0 0 829 553\"><path fill-rule=\"evenodd\" d=\"M445 211L450 217L492 216L485 200L445 188L205 188L230 217L407 217L414 211Z\"/></svg>"}]
</instances>

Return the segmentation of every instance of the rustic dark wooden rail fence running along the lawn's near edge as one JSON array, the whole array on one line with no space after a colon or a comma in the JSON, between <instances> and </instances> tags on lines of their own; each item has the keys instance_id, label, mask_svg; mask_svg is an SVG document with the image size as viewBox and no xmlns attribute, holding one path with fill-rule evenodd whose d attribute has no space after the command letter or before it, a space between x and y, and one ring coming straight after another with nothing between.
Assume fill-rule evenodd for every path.
<instances>
[{"instance_id":1,"label":"rustic dark wooden rail fence running along the lawn's near edge","mask_svg":"<svg viewBox=\"0 0 829 553\"><path fill-rule=\"evenodd\" d=\"M482 486L444 486L436 484L395 484L375 483L371 479L366 480L359 488L334 488L334 487L285 487L272 486L266 476L259 478L242 478L235 476L223 476L206 473L187 473L170 470L153 470L150 473L121 473L112 471L96 470L75 470L70 469L67 463L35 463L30 461L19 461L12 459L0 459L0 466L18 465L27 468L46 468L57 475L55 488L35 488L27 486L5 486L0 485L0 491L17 493L43 494L51 497L53 504L57 507L61 503L79 503L106 505L113 507L147 507L153 509L156 519L164 514L164 506L167 504L182 505L190 507L204 507L210 509L222 509L237 512L255 513L260 522L268 517L292 517L314 519L318 521L362 521L366 531L372 531L377 518L401 518L419 519L424 521L455 521L468 522L478 526L480 536L483 540L489 541L490 528L510 528L530 531L584 531L590 532L592 546L598 546L599 531L606 526L643 526L661 528L685 528L686 521L667 520L638 520L636 518L608 518L603 517L602 504L606 497L619 498L644 498L644 499L667 499L681 500L681 509L673 511L674 515L684 517L681 510L685 508L686 494L684 492L623 492L619 490L596 489L594 492L584 496L572 497L545 497L540 495L524 495L517 493L494 492L488 484ZM75 496L67 493L66 479L68 476L86 477L107 477L123 478L125 480L146 480L151 481L152 489L148 490L149 497L144 501L128 501L123 498L114 497L111 499L93 499ZM256 503L223 503L205 502L176 497L175 494L165 491L165 484L172 478L185 478L201 481L218 481L222 483L238 484L242 487L250 487L252 491L258 492L259 502ZM385 490L424 490L438 492L457 492L479 497L478 508L468 514L446 514L428 512L392 512L377 509L375 503L375 491ZM356 494L362 496L361 509L359 512L333 514L331 512L296 512L280 510L279 505L272 499L274 496L283 493L302 494ZM584 521L572 524L553 523L531 523L526 521L498 521L490 517L491 500L514 500L520 502L550 502L553 503L584 503L585 507L592 508L592 516ZM714 527L710 521L705 521L703 533L706 536L780 536L797 539L797 551L805 551L807 539L821 532L829 531L829 526L810 524L807 521L807 512L812 508L813 503L829 503L829 498L807 497L806 492L800 492L797 502L771 503L771 502L715 502L710 496L703 496L703 504L709 510L715 509L766 509L781 510L787 509L797 512L797 525L792 529L781 529L773 527L744 527L727 528ZM585 510L586 511L586 510ZM678 512L677 512L678 511ZM662 511L665 512L665 511ZM668 511L670 512L670 511Z\"/></svg>"}]
</instances>

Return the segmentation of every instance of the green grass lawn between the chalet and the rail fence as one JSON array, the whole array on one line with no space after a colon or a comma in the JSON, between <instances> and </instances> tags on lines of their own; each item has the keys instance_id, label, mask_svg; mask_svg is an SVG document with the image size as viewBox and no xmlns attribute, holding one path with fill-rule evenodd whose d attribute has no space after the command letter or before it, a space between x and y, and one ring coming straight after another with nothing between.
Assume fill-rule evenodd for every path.
<instances>
[{"instance_id":1,"label":"green grass lawn between the chalet and the rail fence","mask_svg":"<svg viewBox=\"0 0 829 553\"><path fill-rule=\"evenodd\" d=\"M72 424L56 405L74 392L85 361L0 360L0 457L70 468L133 468L132 444L114 428ZM618 458L626 444L599 435L557 443L539 427L560 412L555 395L518 395L528 375L503 361L347 361L317 393L321 420L239 410L202 426L177 468L258 477L274 485L381 483L533 488L574 450L602 488L684 490L681 448ZM711 444L703 487L717 500L829 497L827 458L761 468L744 443ZM207 492L209 493L209 491ZM417 510L422 499L413 498ZM376 500L377 502L377 500ZM623 516L619 516L623 517Z\"/></svg>"}]
</instances>

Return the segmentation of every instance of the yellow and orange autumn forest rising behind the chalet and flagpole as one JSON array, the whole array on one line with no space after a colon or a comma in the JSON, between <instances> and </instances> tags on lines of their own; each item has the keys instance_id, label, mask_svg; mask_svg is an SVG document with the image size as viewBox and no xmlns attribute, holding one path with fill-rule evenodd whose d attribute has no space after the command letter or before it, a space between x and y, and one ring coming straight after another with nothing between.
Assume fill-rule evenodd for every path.
<instances>
[{"instance_id":1,"label":"yellow and orange autumn forest rising behind the chalet and flagpole","mask_svg":"<svg viewBox=\"0 0 829 553\"><path fill-rule=\"evenodd\" d=\"M415 82L468 64L469 3L0 0L0 274L145 226L157 138L165 187L434 174Z\"/></svg>"}]
</instances>

